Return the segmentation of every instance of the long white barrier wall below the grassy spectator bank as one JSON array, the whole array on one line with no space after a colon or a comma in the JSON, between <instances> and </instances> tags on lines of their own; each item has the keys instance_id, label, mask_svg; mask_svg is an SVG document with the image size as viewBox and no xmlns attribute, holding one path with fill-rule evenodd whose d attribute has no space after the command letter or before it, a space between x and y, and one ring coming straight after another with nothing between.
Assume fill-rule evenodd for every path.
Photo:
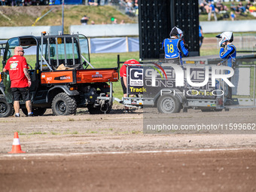
<instances>
[{"instance_id":1,"label":"long white barrier wall below the grassy spectator bank","mask_svg":"<svg viewBox=\"0 0 256 192\"><path fill-rule=\"evenodd\" d=\"M204 33L217 33L224 31L232 32L256 32L255 20L219 20L202 21L200 26ZM0 27L0 39L8 39L20 35L41 35L41 32L49 32L50 35L57 35L62 26L20 26ZM69 26L69 32L79 32L87 38L95 37L125 37L139 36L138 23L108 24L108 25L87 25Z\"/></svg>"}]
</instances>

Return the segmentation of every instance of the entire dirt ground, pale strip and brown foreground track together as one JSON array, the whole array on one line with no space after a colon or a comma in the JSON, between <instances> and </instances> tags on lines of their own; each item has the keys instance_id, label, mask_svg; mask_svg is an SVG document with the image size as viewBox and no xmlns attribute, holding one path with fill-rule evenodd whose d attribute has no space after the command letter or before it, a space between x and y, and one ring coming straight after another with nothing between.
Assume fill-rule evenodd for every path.
<instances>
[{"instance_id":1,"label":"entire dirt ground, pale strip and brown foreground track together","mask_svg":"<svg viewBox=\"0 0 256 192\"><path fill-rule=\"evenodd\" d=\"M256 123L255 117L256 109L232 109L172 118L181 124ZM65 117L49 110L2 118L0 125L1 191L256 191L256 134L143 134L143 111L120 108ZM8 154L15 131L21 156Z\"/></svg>"}]
</instances>

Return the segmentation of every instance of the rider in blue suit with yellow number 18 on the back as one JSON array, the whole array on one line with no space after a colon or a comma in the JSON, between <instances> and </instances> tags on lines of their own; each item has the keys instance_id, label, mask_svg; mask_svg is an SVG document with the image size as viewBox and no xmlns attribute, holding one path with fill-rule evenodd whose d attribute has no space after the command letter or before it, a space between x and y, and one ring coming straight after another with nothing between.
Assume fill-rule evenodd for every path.
<instances>
[{"instance_id":1,"label":"rider in blue suit with yellow number 18 on the back","mask_svg":"<svg viewBox=\"0 0 256 192\"><path fill-rule=\"evenodd\" d=\"M178 27L173 27L170 32L170 38L163 40L162 49L165 53L165 62L182 63L182 56L188 56L188 46L184 44L183 32Z\"/></svg>"}]
</instances>

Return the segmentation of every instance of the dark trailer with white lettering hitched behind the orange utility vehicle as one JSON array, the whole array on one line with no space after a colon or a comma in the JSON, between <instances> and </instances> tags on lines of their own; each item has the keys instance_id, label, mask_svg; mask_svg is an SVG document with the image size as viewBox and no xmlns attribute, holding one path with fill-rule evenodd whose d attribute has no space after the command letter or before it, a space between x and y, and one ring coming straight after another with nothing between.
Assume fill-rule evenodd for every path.
<instances>
[{"instance_id":1,"label":"dark trailer with white lettering hitched behind the orange utility vehicle","mask_svg":"<svg viewBox=\"0 0 256 192\"><path fill-rule=\"evenodd\" d=\"M244 60L239 60L239 64L234 69L232 83L233 93L240 93L242 98L233 96L232 105L225 105L227 100L227 84L223 79L215 81L212 87L212 66L208 63L198 61L187 62L184 68L184 86L175 86L176 70L169 66L169 63L141 62L136 64L126 64L127 74L127 97L120 100L127 107L137 108L157 108L160 113L178 113L183 108L200 109L201 111L222 111L229 108L248 108L255 106L255 67L256 62L251 58L251 65L242 65ZM120 62L119 57L117 60ZM158 63L158 64L157 64ZM247 68L246 68L247 67ZM163 70L162 70L163 69ZM209 70L209 81L202 87L190 86L187 83L187 70L189 70L190 81L200 83L205 81L206 69ZM218 75L225 74L225 70L216 70ZM152 78L152 75L155 78ZM245 79L246 78L246 79ZM252 79L253 78L253 81ZM250 80L251 79L251 80ZM253 89L253 93L250 90ZM251 99L245 99L245 93ZM234 95L233 94L233 95ZM245 104L245 100L251 100Z\"/></svg>"}]
</instances>

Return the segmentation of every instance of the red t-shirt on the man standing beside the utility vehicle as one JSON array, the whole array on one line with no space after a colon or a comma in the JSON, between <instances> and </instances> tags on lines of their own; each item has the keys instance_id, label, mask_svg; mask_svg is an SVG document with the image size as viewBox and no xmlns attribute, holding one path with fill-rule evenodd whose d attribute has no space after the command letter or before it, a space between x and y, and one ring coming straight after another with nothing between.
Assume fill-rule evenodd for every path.
<instances>
[{"instance_id":1,"label":"red t-shirt on the man standing beside the utility vehicle","mask_svg":"<svg viewBox=\"0 0 256 192\"><path fill-rule=\"evenodd\" d=\"M29 69L24 56L14 55L8 59L5 69L8 70L11 79L11 88L29 87L28 78L23 69Z\"/></svg>"}]
</instances>

